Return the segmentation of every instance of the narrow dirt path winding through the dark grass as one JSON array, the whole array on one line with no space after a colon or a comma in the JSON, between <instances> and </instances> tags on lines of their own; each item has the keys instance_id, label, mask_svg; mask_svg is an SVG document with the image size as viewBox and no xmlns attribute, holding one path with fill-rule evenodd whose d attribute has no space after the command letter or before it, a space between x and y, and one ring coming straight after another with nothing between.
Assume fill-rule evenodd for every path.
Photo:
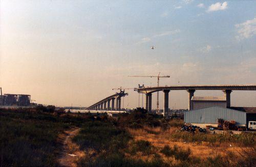
<instances>
[{"instance_id":1,"label":"narrow dirt path winding through the dark grass","mask_svg":"<svg viewBox=\"0 0 256 167\"><path fill-rule=\"evenodd\" d=\"M58 142L60 145L57 156L59 166L76 166L74 161L78 156L69 152L69 145L72 144L71 138L78 133L79 129L80 128L73 128L59 135Z\"/></svg>"}]
</instances>

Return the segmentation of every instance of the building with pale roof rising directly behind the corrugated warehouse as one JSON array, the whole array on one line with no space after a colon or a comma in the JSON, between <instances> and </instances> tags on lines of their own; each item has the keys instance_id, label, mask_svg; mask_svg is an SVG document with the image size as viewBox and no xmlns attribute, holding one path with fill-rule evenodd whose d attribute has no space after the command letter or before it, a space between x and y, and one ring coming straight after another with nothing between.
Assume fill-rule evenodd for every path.
<instances>
[{"instance_id":1,"label":"building with pale roof rising directly behind the corrugated warehouse","mask_svg":"<svg viewBox=\"0 0 256 167\"><path fill-rule=\"evenodd\" d=\"M210 106L226 107L226 99L224 97L197 97L191 99L191 109L200 109Z\"/></svg>"}]
</instances>

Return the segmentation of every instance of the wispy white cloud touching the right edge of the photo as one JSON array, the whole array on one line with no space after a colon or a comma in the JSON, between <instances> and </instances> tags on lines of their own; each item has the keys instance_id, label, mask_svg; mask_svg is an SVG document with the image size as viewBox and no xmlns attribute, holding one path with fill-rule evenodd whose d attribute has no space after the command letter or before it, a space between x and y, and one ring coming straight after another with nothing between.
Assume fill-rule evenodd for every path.
<instances>
[{"instance_id":1,"label":"wispy white cloud touching the right edge of the photo","mask_svg":"<svg viewBox=\"0 0 256 167\"><path fill-rule=\"evenodd\" d=\"M237 39L250 38L256 35L256 18L247 20L241 24L235 25L238 29Z\"/></svg>"}]
</instances>

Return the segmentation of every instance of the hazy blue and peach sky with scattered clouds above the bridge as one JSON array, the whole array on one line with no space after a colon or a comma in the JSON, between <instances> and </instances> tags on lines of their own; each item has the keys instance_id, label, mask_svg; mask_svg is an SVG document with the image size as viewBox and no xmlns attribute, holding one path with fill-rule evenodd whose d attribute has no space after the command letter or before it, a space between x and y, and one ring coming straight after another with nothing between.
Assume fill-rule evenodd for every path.
<instances>
[{"instance_id":1,"label":"hazy blue and peach sky with scattered clouds above the bridge","mask_svg":"<svg viewBox=\"0 0 256 167\"><path fill-rule=\"evenodd\" d=\"M156 86L127 76L159 72L160 86L256 84L255 46L256 1L0 0L0 87L42 104L90 106ZM138 107L126 92L122 105ZM256 106L256 91L233 91L231 105ZM187 108L187 92L171 91L169 107Z\"/></svg>"}]
</instances>

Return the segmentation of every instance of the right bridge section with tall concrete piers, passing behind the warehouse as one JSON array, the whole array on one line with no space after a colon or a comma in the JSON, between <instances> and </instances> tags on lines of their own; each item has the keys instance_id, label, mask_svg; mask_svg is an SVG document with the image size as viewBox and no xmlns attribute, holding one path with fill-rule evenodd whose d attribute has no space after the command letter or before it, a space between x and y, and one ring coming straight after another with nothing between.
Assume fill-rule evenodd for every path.
<instances>
[{"instance_id":1,"label":"right bridge section with tall concrete piers, passing behind the warehouse","mask_svg":"<svg viewBox=\"0 0 256 167\"><path fill-rule=\"evenodd\" d=\"M148 112L152 110L152 93L163 91L164 93L164 116L168 114L169 92L173 90L186 90L188 92L188 110L191 109L191 98L196 90L221 90L224 92L226 107L230 107L230 94L232 91L256 91L256 85L189 85L189 86L165 86L165 87L147 87L138 88L135 91L145 93L145 109Z\"/></svg>"}]
</instances>

